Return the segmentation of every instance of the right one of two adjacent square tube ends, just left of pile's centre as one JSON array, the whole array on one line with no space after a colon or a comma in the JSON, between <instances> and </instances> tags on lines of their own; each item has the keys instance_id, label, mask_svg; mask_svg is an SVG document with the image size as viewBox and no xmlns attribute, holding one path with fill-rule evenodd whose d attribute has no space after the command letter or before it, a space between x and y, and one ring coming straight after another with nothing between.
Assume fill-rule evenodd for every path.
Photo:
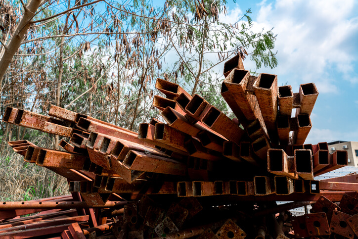
<instances>
[{"instance_id":1,"label":"right one of two adjacent square tube ends, just left of pile's centre","mask_svg":"<svg viewBox=\"0 0 358 239\"><path fill-rule=\"evenodd\" d=\"M190 136L166 124L155 124L154 140L163 142L181 151L186 151L184 142Z\"/></svg>"}]
</instances>

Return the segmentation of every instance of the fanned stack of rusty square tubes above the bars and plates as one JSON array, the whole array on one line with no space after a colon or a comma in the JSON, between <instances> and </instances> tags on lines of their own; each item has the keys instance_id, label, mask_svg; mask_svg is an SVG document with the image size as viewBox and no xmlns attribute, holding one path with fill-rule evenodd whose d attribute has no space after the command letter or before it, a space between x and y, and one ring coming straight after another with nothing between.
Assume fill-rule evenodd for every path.
<instances>
[{"instance_id":1,"label":"fanned stack of rusty square tubes above the bars and plates","mask_svg":"<svg viewBox=\"0 0 358 239\"><path fill-rule=\"evenodd\" d=\"M239 56L225 63L224 75L221 95L236 116L233 119L203 97L157 79L155 86L163 95L154 96L153 106L166 123L153 118L135 133L54 105L49 116L7 107L3 121L67 138L59 143L63 150L28 141L9 144L25 161L66 177L71 192L80 193L90 206L105 205L113 195L127 200L147 195L201 202L211 198L213 205L227 205L316 201L322 195L337 201L350 191L347 185L314 180L346 166L348 159L344 150L329 153L327 143L304 144L318 96L313 83L302 84L299 93L292 93L291 86L277 86L277 75L251 76ZM358 191L357 182L351 186ZM161 210L155 208L146 209L141 223L152 228L167 223L178 232L181 226L174 218L146 220L146 214ZM234 230L236 219L227 219L226 226ZM286 237L284 221L266 217L258 226L257 238L265 236L267 223L275 225L277 230L271 231L276 238ZM225 230L215 237L222 238L223 232L228 233ZM235 230L246 235L241 228Z\"/></svg>"}]
</instances>

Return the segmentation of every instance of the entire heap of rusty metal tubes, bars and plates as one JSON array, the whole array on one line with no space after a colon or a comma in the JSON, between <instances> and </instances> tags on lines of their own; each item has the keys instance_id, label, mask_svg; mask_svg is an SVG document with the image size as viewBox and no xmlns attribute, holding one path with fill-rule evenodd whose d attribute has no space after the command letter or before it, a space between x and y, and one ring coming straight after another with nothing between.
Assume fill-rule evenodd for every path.
<instances>
[{"instance_id":1,"label":"entire heap of rusty metal tubes, bars and plates","mask_svg":"<svg viewBox=\"0 0 358 239\"><path fill-rule=\"evenodd\" d=\"M224 76L221 95L236 118L157 79L165 97L153 106L167 123L153 118L138 133L54 105L49 116L7 107L4 122L69 139L59 143L64 150L9 145L66 177L72 195L3 202L0 238L357 237L357 175L313 180L348 165L345 150L304 144L314 83L293 93L276 75L251 76L239 55ZM304 216L288 211L310 204Z\"/></svg>"}]
</instances>

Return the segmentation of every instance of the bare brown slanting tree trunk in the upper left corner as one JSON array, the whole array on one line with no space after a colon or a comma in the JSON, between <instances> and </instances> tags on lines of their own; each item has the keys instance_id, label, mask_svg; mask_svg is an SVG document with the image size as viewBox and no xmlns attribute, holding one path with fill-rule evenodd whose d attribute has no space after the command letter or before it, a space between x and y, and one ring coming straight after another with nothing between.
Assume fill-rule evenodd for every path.
<instances>
[{"instance_id":1,"label":"bare brown slanting tree trunk in the upper left corner","mask_svg":"<svg viewBox=\"0 0 358 239\"><path fill-rule=\"evenodd\" d=\"M27 29L29 29L32 24L31 20L34 17L37 9L41 4L41 0L30 0L24 10L24 15L19 22L19 25L16 27L15 32L7 44L3 54L0 56L0 94L2 88L2 77L4 76L7 67L9 66L13 56L15 55L17 49L21 45L21 41L24 38Z\"/></svg>"}]
</instances>

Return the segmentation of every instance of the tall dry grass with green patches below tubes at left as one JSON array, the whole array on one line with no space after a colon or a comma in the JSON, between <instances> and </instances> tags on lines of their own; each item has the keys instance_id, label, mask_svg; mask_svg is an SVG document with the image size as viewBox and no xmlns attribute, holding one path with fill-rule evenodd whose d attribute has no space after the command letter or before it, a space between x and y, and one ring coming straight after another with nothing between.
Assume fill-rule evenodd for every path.
<instances>
[{"instance_id":1,"label":"tall dry grass with green patches below tubes at left","mask_svg":"<svg viewBox=\"0 0 358 239\"><path fill-rule=\"evenodd\" d=\"M52 148L52 145L43 146ZM6 146L0 152L0 201L33 200L65 194L69 194L69 191L64 177L25 162L24 157L11 147Z\"/></svg>"}]
</instances>

